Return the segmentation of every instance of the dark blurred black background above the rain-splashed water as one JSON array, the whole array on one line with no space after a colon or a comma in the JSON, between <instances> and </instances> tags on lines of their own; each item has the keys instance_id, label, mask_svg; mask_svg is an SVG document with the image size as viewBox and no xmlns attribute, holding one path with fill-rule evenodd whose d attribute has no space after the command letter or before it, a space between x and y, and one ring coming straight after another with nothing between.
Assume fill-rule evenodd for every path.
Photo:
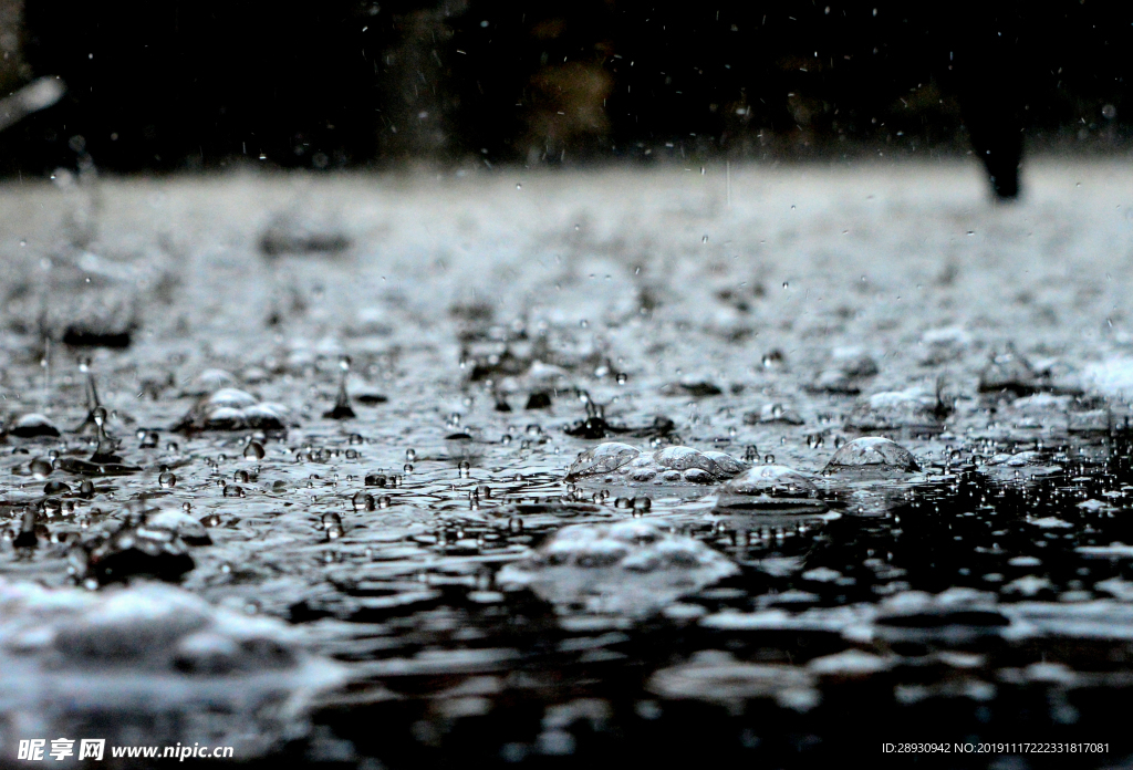
<instances>
[{"instance_id":1,"label":"dark blurred black background above the rain-splashed water","mask_svg":"<svg viewBox=\"0 0 1133 770\"><path fill-rule=\"evenodd\" d=\"M1096 0L27 0L3 92L69 91L0 132L0 173L935 157L1020 129L1109 152L1131 23Z\"/></svg>"}]
</instances>

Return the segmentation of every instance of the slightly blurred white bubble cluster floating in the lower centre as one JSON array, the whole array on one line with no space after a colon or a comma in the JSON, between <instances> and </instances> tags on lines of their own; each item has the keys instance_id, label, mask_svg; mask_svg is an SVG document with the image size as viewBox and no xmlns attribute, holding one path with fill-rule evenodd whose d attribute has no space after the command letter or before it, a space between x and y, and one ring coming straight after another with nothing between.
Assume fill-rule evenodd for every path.
<instances>
[{"instance_id":1,"label":"slightly blurred white bubble cluster floating in the lower centre","mask_svg":"<svg viewBox=\"0 0 1133 770\"><path fill-rule=\"evenodd\" d=\"M496 583L529 588L561 613L646 616L739 571L699 540L623 521L563 528Z\"/></svg>"}]
</instances>

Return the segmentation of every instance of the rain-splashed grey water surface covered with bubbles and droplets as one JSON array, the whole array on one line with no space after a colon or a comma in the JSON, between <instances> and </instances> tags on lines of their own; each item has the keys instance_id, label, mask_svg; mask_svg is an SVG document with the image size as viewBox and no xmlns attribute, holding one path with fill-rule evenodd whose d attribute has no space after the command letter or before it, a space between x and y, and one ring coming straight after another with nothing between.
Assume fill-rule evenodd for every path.
<instances>
[{"instance_id":1,"label":"rain-splashed grey water surface covered with bubbles and droplets","mask_svg":"<svg viewBox=\"0 0 1133 770\"><path fill-rule=\"evenodd\" d=\"M1133 179L1029 177L7 185L0 764L1130 762Z\"/></svg>"}]
</instances>

